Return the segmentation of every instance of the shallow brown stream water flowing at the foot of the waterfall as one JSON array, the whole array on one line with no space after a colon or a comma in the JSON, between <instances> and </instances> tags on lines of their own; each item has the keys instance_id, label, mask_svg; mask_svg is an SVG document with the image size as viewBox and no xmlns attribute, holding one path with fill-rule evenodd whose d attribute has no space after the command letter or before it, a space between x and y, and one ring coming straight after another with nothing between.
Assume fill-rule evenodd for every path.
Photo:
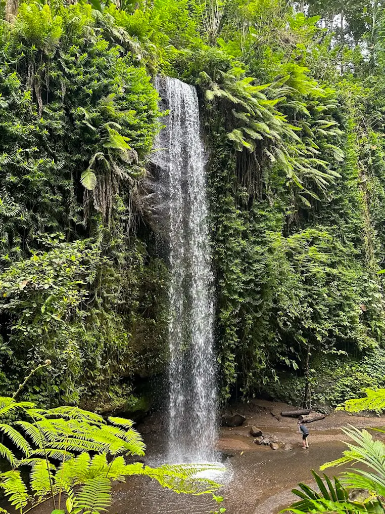
<instances>
[{"instance_id":1,"label":"shallow brown stream water flowing at the foot of the waterfall","mask_svg":"<svg viewBox=\"0 0 385 514\"><path fill-rule=\"evenodd\" d=\"M220 494L225 498L226 514L275 514L295 496L291 489L298 482L312 484L311 469L341 456L345 445L338 440L314 443L309 450L293 446L292 451L273 451L257 447L233 451L225 465L227 482ZM162 444L148 448L148 464L157 464ZM151 462L152 461L152 462ZM340 469L339 469L340 471ZM336 471L334 471L336 472ZM329 475L333 475L330 470ZM222 506L222 505L221 505ZM215 504L208 495L192 497L162 489L150 480L135 478L129 484L117 486L112 512L119 514L207 514Z\"/></svg>"}]
</instances>

